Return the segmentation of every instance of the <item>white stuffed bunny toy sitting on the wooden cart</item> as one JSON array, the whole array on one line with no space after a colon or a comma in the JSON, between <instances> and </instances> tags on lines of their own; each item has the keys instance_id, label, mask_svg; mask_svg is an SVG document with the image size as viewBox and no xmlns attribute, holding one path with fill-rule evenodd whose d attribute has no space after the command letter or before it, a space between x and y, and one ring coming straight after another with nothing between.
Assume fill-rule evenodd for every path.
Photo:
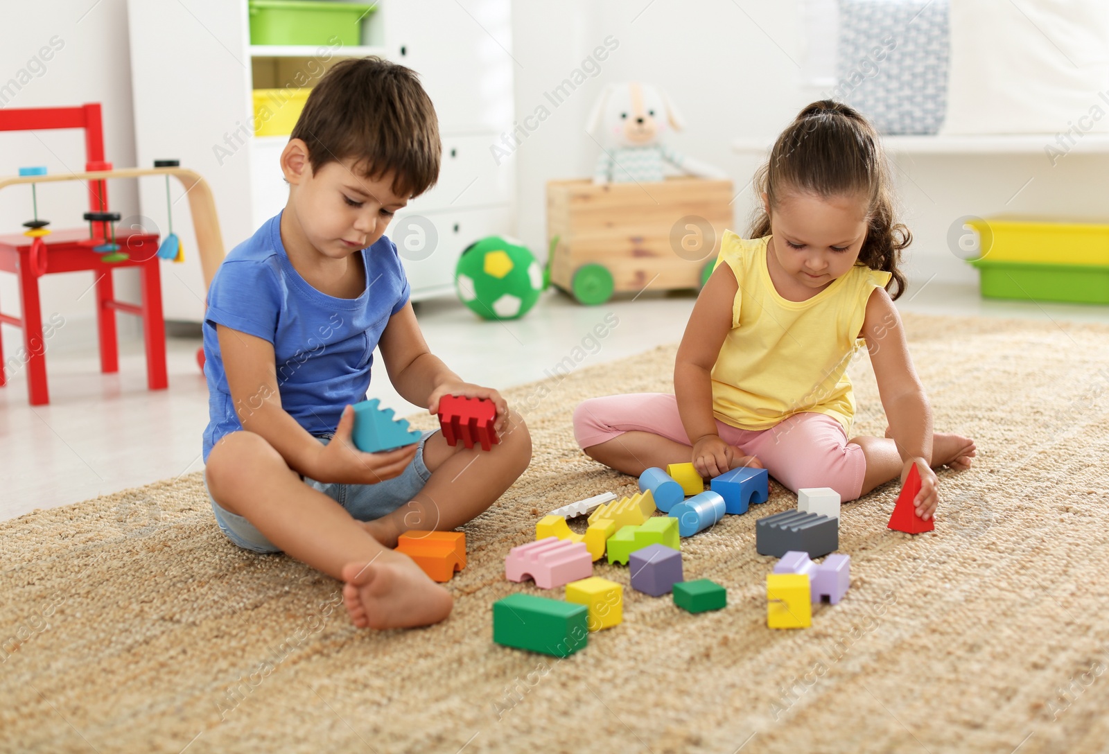
<instances>
[{"instance_id":1,"label":"white stuffed bunny toy sitting on the wooden cart","mask_svg":"<svg viewBox=\"0 0 1109 754\"><path fill-rule=\"evenodd\" d=\"M684 125L670 100L650 84L632 81L606 86L586 130L592 134L598 128L602 145L594 184L662 181L664 162L704 179L728 177L723 171L667 146L663 136L668 129L681 131Z\"/></svg>"}]
</instances>

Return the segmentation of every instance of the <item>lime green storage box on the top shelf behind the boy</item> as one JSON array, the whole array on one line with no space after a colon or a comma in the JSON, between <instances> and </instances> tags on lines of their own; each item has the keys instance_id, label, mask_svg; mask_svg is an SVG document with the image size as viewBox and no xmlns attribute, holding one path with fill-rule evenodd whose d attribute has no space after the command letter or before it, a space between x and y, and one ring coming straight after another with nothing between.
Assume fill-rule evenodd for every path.
<instances>
[{"instance_id":1,"label":"lime green storage box on the top shelf behind the boy","mask_svg":"<svg viewBox=\"0 0 1109 754\"><path fill-rule=\"evenodd\" d=\"M376 6L315 0L250 0L251 44L362 44L362 19Z\"/></svg>"}]
</instances>

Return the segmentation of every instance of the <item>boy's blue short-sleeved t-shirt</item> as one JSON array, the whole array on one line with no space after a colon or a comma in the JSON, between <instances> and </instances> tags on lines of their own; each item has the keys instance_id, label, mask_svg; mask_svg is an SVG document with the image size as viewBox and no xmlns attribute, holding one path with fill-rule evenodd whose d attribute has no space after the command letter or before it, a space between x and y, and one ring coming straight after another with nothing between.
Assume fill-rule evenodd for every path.
<instances>
[{"instance_id":1,"label":"boy's blue short-sleeved t-shirt","mask_svg":"<svg viewBox=\"0 0 1109 754\"><path fill-rule=\"evenodd\" d=\"M328 296L301 277L281 241L279 213L224 258L204 314L205 463L216 440L243 428L223 368L217 324L273 344L282 408L312 435L334 432L343 407L365 399L374 348L389 317L408 303L410 289L387 237L357 253L366 269L366 288L357 298ZM248 411L264 397L241 401Z\"/></svg>"}]
</instances>

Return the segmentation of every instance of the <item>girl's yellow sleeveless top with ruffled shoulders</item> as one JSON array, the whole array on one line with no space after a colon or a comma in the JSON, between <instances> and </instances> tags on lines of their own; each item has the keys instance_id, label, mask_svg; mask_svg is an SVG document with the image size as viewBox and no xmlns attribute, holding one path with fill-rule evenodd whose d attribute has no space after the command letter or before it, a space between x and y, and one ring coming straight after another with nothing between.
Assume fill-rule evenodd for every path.
<instances>
[{"instance_id":1,"label":"girl's yellow sleeveless top with ruffled shoulders","mask_svg":"<svg viewBox=\"0 0 1109 754\"><path fill-rule=\"evenodd\" d=\"M802 411L826 414L851 437L855 397L847 365L866 344L857 337L866 302L891 274L856 264L812 298L779 295L766 268L770 236L746 241L725 231L716 265L740 287L732 329L712 368L712 409L740 429L769 429Z\"/></svg>"}]
</instances>

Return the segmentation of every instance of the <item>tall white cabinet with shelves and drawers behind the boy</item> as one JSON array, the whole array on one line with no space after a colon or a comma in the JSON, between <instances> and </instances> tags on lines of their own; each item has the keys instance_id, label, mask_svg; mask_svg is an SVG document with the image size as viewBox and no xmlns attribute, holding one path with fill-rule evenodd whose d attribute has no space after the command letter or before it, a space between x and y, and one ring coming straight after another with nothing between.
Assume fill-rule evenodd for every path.
<instances>
[{"instance_id":1,"label":"tall white cabinet with shelves and drawers behind the boy","mask_svg":"<svg viewBox=\"0 0 1109 754\"><path fill-rule=\"evenodd\" d=\"M512 129L510 0L379 0L363 21L363 44L330 49L251 44L246 0L192 0L187 8L129 0L128 16L139 164L180 160L201 173L215 194L228 251L288 196L277 161L288 139L254 136L252 90L281 86L293 71L311 77L335 60L372 54L417 71L439 116L439 182L409 202L388 231L397 236L418 223L437 237L430 253L401 249L413 298L452 293L455 263L467 245L515 233L515 160L498 165L490 152ZM164 185L142 182L139 191L143 216L167 232ZM176 187L171 196L185 263L163 272L165 317L201 322L206 291L187 203Z\"/></svg>"}]
</instances>

